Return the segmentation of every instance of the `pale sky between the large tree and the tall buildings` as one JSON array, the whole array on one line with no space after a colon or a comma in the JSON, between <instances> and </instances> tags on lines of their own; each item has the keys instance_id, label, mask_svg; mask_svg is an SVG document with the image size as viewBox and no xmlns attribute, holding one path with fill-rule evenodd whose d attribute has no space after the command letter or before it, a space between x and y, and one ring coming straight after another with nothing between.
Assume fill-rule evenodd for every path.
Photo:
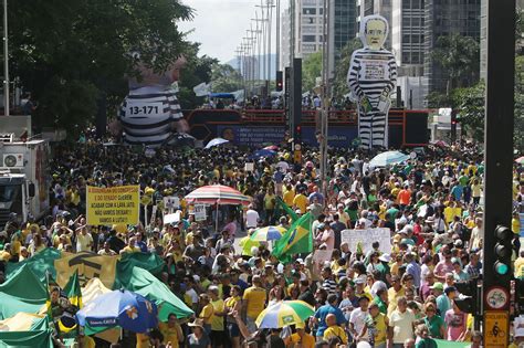
<instances>
[{"instance_id":1,"label":"pale sky between the large tree and the tall buildings","mask_svg":"<svg viewBox=\"0 0 524 348\"><path fill-rule=\"evenodd\" d=\"M201 43L200 55L217 57L222 63L235 57L234 51L247 35L251 19L260 11L255 7L260 0L182 0L182 3L195 10L195 18L178 23L179 29L195 30L188 38Z\"/></svg>"}]
</instances>

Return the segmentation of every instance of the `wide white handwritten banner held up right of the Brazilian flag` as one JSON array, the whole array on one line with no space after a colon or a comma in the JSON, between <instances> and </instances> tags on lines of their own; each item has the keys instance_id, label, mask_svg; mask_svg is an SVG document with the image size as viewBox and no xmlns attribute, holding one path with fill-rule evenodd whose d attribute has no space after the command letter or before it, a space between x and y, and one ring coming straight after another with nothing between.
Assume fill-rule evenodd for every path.
<instances>
[{"instance_id":1,"label":"wide white handwritten banner held up right of the Brazilian flag","mask_svg":"<svg viewBox=\"0 0 524 348\"><path fill-rule=\"evenodd\" d=\"M378 242L382 253L391 253L391 232L389 229L344 230L340 232L342 243L347 243L349 250L355 252L360 243L364 254L370 251L371 244Z\"/></svg>"}]
</instances>

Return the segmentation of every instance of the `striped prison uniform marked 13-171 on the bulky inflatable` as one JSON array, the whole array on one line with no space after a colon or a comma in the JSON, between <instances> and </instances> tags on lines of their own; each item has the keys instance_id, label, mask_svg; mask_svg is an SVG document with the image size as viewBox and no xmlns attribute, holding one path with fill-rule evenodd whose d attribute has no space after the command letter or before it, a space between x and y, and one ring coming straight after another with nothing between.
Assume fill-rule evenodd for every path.
<instances>
[{"instance_id":1,"label":"striped prison uniform marked 13-171 on the bulky inflatable","mask_svg":"<svg viewBox=\"0 0 524 348\"><path fill-rule=\"evenodd\" d=\"M171 135L171 123L182 117L175 92L165 87L129 92L118 114L125 143L148 146L160 146Z\"/></svg>"}]
</instances>

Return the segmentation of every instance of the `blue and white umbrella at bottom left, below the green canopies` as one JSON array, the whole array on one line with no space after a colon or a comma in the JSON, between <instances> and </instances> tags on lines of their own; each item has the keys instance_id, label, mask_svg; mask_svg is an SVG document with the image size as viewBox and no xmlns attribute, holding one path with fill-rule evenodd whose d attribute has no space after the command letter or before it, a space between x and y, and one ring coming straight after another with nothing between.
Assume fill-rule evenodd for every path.
<instances>
[{"instance_id":1,"label":"blue and white umbrella at bottom left, below the green canopies","mask_svg":"<svg viewBox=\"0 0 524 348\"><path fill-rule=\"evenodd\" d=\"M146 297L125 291L113 291L88 302L76 313L81 326L119 326L133 333L146 333L158 325L157 306Z\"/></svg>"}]
</instances>

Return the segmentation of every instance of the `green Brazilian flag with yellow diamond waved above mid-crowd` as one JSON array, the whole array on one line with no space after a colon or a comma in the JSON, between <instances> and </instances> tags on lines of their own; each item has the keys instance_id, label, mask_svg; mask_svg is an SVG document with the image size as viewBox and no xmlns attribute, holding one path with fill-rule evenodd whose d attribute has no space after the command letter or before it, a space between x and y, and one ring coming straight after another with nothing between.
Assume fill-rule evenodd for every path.
<instances>
[{"instance_id":1,"label":"green Brazilian flag with yellow diamond waved above mid-crowd","mask_svg":"<svg viewBox=\"0 0 524 348\"><path fill-rule=\"evenodd\" d=\"M313 251L311 224L313 217L305 213L276 241L273 255L282 263L289 263L293 255Z\"/></svg>"}]
</instances>

